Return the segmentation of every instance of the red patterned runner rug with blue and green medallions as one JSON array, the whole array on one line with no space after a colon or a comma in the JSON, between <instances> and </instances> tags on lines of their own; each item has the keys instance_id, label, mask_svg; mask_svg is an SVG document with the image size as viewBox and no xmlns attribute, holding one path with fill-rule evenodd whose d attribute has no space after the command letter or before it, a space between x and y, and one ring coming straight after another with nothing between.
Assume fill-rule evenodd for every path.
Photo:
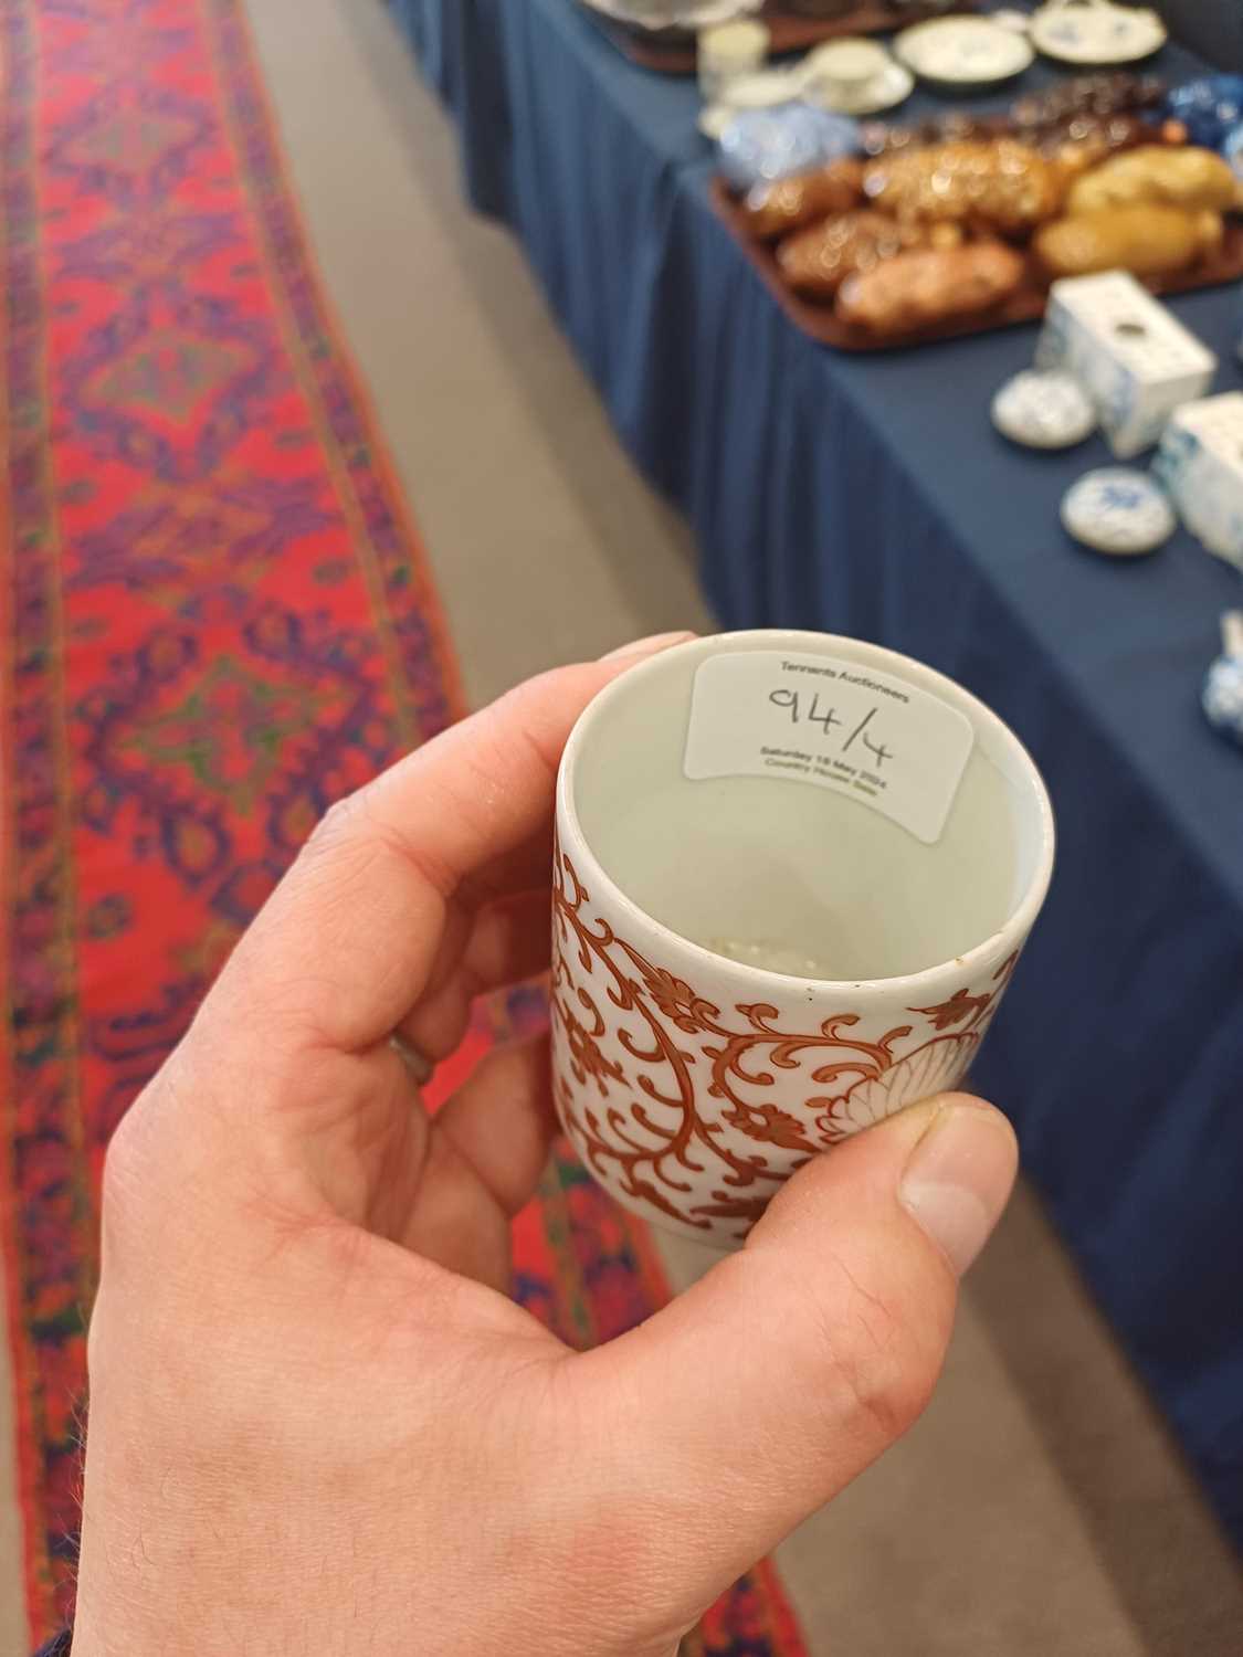
<instances>
[{"instance_id":1,"label":"red patterned runner rug with blue and green medallions","mask_svg":"<svg viewBox=\"0 0 1243 1657\"><path fill-rule=\"evenodd\" d=\"M0 1246L41 1639L108 1135L323 809L461 696L237 0L0 0ZM666 1292L563 1160L517 1289L575 1344ZM802 1645L761 1569L689 1649Z\"/></svg>"}]
</instances>

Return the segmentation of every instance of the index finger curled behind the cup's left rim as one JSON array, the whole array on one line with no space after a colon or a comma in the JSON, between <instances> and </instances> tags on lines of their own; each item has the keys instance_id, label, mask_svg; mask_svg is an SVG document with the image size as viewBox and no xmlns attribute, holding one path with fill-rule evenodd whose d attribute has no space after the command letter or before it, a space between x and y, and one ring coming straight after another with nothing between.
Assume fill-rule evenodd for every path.
<instances>
[{"instance_id":1,"label":"index finger curled behind the cup's left rim","mask_svg":"<svg viewBox=\"0 0 1243 1657\"><path fill-rule=\"evenodd\" d=\"M529 679L335 805L212 999L305 1046L356 1051L388 1036L426 984L454 891L549 822L557 764L587 703L689 636Z\"/></svg>"}]
</instances>

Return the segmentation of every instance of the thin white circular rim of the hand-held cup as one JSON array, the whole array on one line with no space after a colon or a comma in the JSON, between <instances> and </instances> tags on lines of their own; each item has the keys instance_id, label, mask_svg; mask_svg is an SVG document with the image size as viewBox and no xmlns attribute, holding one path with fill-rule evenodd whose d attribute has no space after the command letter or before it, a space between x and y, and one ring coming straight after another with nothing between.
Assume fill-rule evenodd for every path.
<instances>
[{"instance_id":1,"label":"thin white circular rim of the hand-held cup","mask_svg":"<svg viewBox=\"0 0 1243 1657\"><path fill-rule=\"evenodd\" d=\"M989 726L1001 737L1001 741L1018 757L1019 767L1024 772L1026 780L1031 784L1039 812L1041 833L1039 855L1036 858L1031 880L1004 925L998 926L986 938L981 938L981 941L973 944L965 954L938 961L933 966L920 968L918 973L898 973L892 978L857 979L804 978L794 973L777 973L766 966L751 966L749 963L734 961L728 954L718 954L716 949L709 949L706 944L696 943L693 938L686 938L671 926L666 926L665 921L650 915L622 890L622 886L597 858L578 820L578 810L573 799L573 769L578 751L590 737L592 727L598 722L602 713L612 703L620 699L626 693L626 688L633 688L638 679L655 678L661 666L666 666L678 656L721 655L734 641L746 641L751 646L771 641L774 650L784 650L787 653L794 653L802 648L814 655L832 655L832 646L845 646L847 651L863 650L870 655L872 664L877 669L912 678L920 689L925 689L930 694L945 696L961 711L970 713L973 724ZM593 895L595 903L600 901L600 895L603 893L610 906L620 910L625 916L633 918L638 926L650 928L661 944L668 946L671 951L689 954L691 959L701 961L704 968L711 968L718 974L746 981L747 984L754 984L756 981L767 983L772 984L774 989L781 989L786 996L804 998L809 994L812 986L824 991L858 993L875 989L880 993L900 991L902 994L907 994L908 989L920 989L921 986L935 984L941 978L970 978L979 968L994 961L998 954L1004 954L1008 944L1021 948L1036 925L1041 908L1044 906L1049 882L1052 880L1057 843L1052 802L1036 761L1004 719L1001 719L999 714L994 714L986 703L979 701L978 696L973 696L971 691L958 684L956 679L951 679L945 673L938 673L936 668L930 668L926 663L917 661L913 656L902 655L902 651L888 650L883 645L873 645L868 640L849 638L842 633L815 633L807 628L738 628L728 633L708 633L701 638L688 640L684 645L675 645L671 650L661 650L655 656L648 656L645 661L636 663L633 668L626 668L625 673L612 679L602 691L597 691L573 722L557 769L555 812L559 824L563 822L573 837L577 862L582 863L583 886ZM560 845L560 857L565 855L567 848L565 845Z\"/></svg>"}]
</instances>

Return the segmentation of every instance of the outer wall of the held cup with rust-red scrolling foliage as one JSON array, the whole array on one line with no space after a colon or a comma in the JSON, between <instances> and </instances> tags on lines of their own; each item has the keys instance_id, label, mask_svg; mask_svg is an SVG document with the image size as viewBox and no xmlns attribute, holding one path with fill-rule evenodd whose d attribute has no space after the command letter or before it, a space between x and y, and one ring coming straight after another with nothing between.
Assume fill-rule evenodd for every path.
<instances>
[{"instance_id":1,"label":"outer wall of the held cup with rust-red scrolling foliage","mask_svg":"<svg viewBox=\"0 0 1243 1657\"><path fill-rule=\"evenodd\" d=\"M839 1012L817 1029L779 1027L779 1009L728 1014L655 966L602 916L555 848L552 1014L557 1109L580 1155L640 1206L693 1231L744 1236L777 1185L817 1152L965 1074L1009 983L963 988L877 1039ZM741 1019L741 1024L738 1022ZM791 1089L800 1109L764 1094Z\"/></svg>"}]
</instances>

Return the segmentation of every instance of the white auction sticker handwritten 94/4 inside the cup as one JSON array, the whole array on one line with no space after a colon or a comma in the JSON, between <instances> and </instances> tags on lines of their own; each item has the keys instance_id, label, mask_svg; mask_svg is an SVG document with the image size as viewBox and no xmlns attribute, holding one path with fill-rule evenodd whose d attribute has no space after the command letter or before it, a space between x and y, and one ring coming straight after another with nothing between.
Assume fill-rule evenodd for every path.
<instances>
[{"instance_id":1,"label":"white auction sticker handwritten 94/4 inside the cup","mask_svg":"<svg viewBox=\"0 0 1243 1657\"><path fill-rule=\"evenodd\" d=\"M835 789L933 845L973 744L966 714L892 673L754 650L699 664L683 769Z\"/></svg>"}]
</instances>

